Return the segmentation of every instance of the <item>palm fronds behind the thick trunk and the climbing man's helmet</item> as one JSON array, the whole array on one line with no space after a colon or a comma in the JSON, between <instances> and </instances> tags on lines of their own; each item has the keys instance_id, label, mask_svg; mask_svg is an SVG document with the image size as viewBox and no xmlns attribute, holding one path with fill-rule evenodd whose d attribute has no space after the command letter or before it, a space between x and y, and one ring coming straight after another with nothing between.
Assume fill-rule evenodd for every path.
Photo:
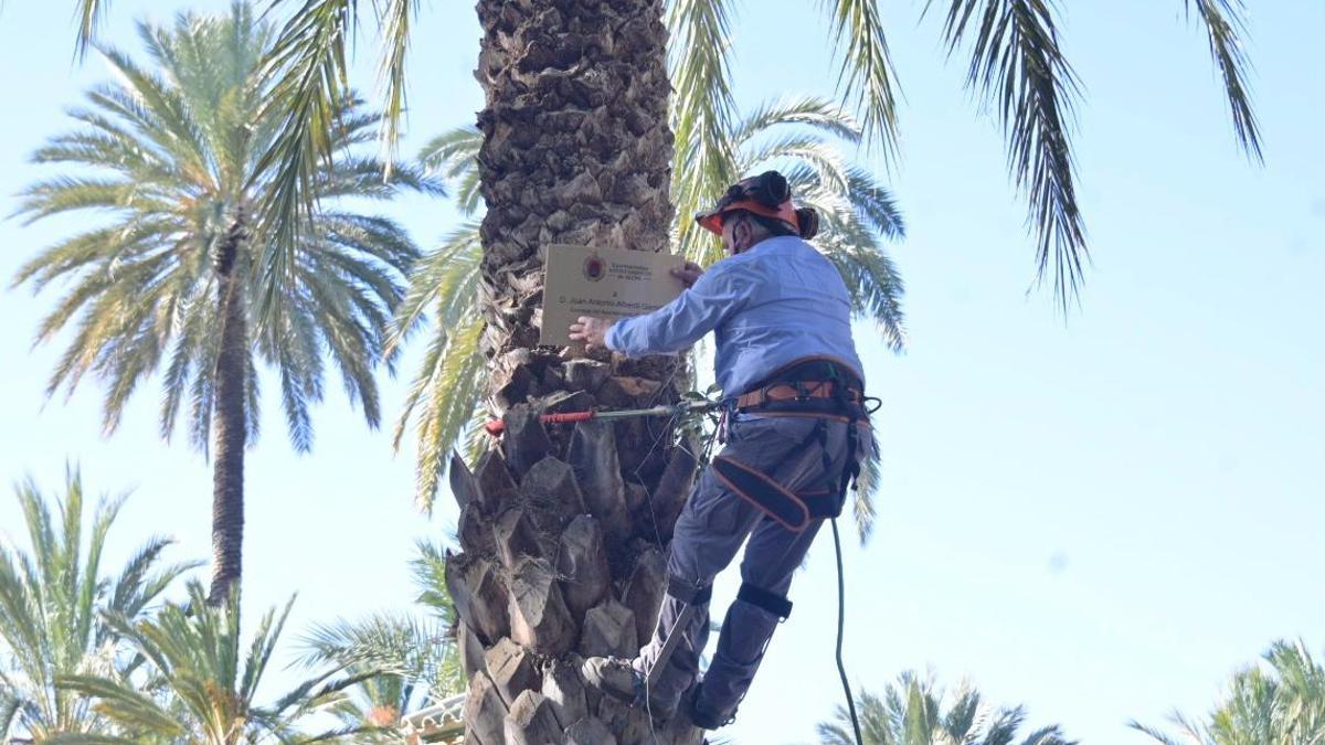
<instances>
[{"instance_id":1,"label":"palm fronds behind the thick trunk and the climbing man's helmet","mask_svg":"<svg viewBox=\"0 0 1325 745\"><path fill-rule=\"evenodd\" d=\"M859 144L861 135L860 125L841 107L820 98L796 98L768 102L750 111L733 122L722 137L727 143L723 151L731 154L731 172L782 168L799 203L819 211L822 231L815 245L847 280L857 314L874 323L885 346L900 350L906 337L902 281L884 240L902 237L905 227L889 190L847 163L840 143ZM432 174L452 186L465 223L416 265L388 341L388 349L394 349L425 323L429 326L428 350L394 435L394 445L399 449L413 419L416 500L425 510L432 509L452 449L464 443L466 460L476 463L488 444L480 428L485 419L486 372L486 361L478 353L482 204L476 159L481 144L477 129L458 127L429 141L419 155ZM693 188L694 182L684 178L684 171L680 163L673 163L673 194L685 195L680 201L698 203L685 191ZM673 221L678 252L705 266L719 260L721 245L686 232L689 223L680 216ZM681 239L682 235L686 237ZM878 481L877 469L876 453L857 492L855 514L861 537L873 525L871 496Z\"/></svg>"}]
</instances>

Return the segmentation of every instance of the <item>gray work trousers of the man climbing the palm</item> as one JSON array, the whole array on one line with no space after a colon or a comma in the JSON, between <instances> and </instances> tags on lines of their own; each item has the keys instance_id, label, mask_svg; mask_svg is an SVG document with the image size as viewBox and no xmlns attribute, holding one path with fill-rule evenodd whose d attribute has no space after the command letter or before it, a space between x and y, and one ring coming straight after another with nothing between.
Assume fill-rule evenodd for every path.
<instances>
[{"instance_id":1,"label":"gray work trousers of the man climbing the palm","mask_svg":"<svg viewBox=\"0 0 1325 745\"><path fill-rule=\"evenodd\" d=\"M799 416L729 422L727 444L719 455L775 475L794 493L822 489L836 492L848 457L848 424L823 420L831 461L825 473L825 448L818 437L811 437L820 422ZM856 427L857 447L851 457L860 457L871 447L869 427ZM751 501L731 492L712 469L706 471L676 522L668 558L672 589L680 590L681 595L693 595L709 587L713 578L731 563L749 536L750 544L741 562L742 582L786 597L791 575L804 559L822 524L822 520L815 520L799 533L788 530ZM649 689L652 701L668 707L680 701L681 695L694 683L700 654L709 639L708 602L696 606L689 622L677 628L684 607L670 591L664 597L653 639L633 661L637 672L648 675L668 635L682 635L659 680ZM775 614L746 601L737 599L731 603L722 622L717 651L704 676L698 705L722 718L730 718L735 713L779 622Z\"/></svg>"}]
</instances>

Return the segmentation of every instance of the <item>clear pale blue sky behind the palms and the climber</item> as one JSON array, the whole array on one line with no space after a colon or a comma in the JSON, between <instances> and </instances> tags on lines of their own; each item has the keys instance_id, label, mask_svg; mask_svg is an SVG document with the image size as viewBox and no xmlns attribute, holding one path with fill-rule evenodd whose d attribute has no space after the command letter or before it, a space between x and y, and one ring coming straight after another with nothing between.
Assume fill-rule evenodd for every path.
<instances>
[{"instance_id":1,"label":"clear pale blue sky behind the palms and the climber","mask_svg":"<svg viewBox=\"0 0 1325 745\"><path fill-rule=\"evenodd\" d=\"M768 5L746 3L737 19L741 102L831 91L814 4ZM890 355L860 329L885 399L888 465L877 534L848 555L852 677L878 689L901 669L931 668L950 684L970 677L992 701L1027 704L1032 724L1141 742L1126 720L1204 711L1273 639L1325 642L1325 5L1253 4L1248 52L1267 143L1257 168L1234 144L1179 0L1068 3L1064 46L1088 94L1076 144L1094 265L1067 322L1047 294L1026 293L1024 209L996 129L973 115L961 65L943 62L935 19L917 23L918 1L884 5L906 95L904 160L889 180L910 228L892 248L910 347ZM95 58L72 64L70 7L0 12L4 213L40 175L26 155L106 77ZM107 38L136 48L130 19L176 7L119 0ZM407 152L473 121L477 38L469 4L433 3L419 24ZM368 52L363 38L364 87ZM453 225L440 203L391 212L424 243ZM0 223L5 284L68 229ZM76 459L93 488L135 489L121 553L160 532L179 538L176 557L205 558L209 469L156 439L152 387L109 440L95 386L42 402L57 349L29 351L29 341L49 302L0 294L0 477L33 473L53 488ZM398 411L403 383L383 386L386 410ZM245 602L252 618L298 591L295 632L405 604L415 538L441 536L454 518L445 497L431 521L413 512L409 453L394 457L387 433L367 431L343 396L315 424L314 453L297 457L269 406L248 471ZM0 529L16 521L0 498ZM719 585L718 607L734 589ZM727 730L741 742L810 741L840 699L831 541L815 547L792 599L795 615Z\"/></svg>"}]
</instances>

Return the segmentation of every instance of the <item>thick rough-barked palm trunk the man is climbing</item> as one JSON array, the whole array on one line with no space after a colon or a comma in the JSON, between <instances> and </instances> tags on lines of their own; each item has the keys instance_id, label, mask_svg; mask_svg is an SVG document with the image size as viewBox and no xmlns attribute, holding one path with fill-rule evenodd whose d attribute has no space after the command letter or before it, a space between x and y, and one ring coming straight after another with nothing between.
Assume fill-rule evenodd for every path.
<instances>
[{"instance_id":1,"label":"thick rough-barked palm trunk the man is climbing","mask_svg":"<svg viewBox=\"0 0 1325 745\"><path fill-rule=\"evenodd\" d=\"M574 654L631 656L656 623L664 546L694 475L661 422L545 428L543 410L673 403L668 359L537 347L553 244L664 251L672 134L662 0L480 0L482 349L507 428L456 459L448 561L469 673L465 742L698 742L587 691Z\"/></svg>"}]
</instances>

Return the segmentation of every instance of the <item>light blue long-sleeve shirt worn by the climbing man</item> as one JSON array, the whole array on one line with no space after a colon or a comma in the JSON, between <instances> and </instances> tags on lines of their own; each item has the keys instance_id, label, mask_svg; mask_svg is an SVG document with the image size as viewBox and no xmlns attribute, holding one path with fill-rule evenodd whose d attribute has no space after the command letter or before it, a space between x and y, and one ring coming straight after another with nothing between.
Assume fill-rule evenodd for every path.
<instances>
[{"instance_id":1,"label":"light blue long-sleeve shirt worn by the climbing man","mask_svg":"<svg viewBox=\"0 0 1325 745\"><path fill-rule=\"evenodd\" d=\"M749 391L779 367L833 357L864 380L851 338L851 297L828 258L792 236L763 240L718 261L694 286L647 315L623 318L607 346L627 357L676 354L714 331L725 395Z\"/></svg>"}]
</instances>

